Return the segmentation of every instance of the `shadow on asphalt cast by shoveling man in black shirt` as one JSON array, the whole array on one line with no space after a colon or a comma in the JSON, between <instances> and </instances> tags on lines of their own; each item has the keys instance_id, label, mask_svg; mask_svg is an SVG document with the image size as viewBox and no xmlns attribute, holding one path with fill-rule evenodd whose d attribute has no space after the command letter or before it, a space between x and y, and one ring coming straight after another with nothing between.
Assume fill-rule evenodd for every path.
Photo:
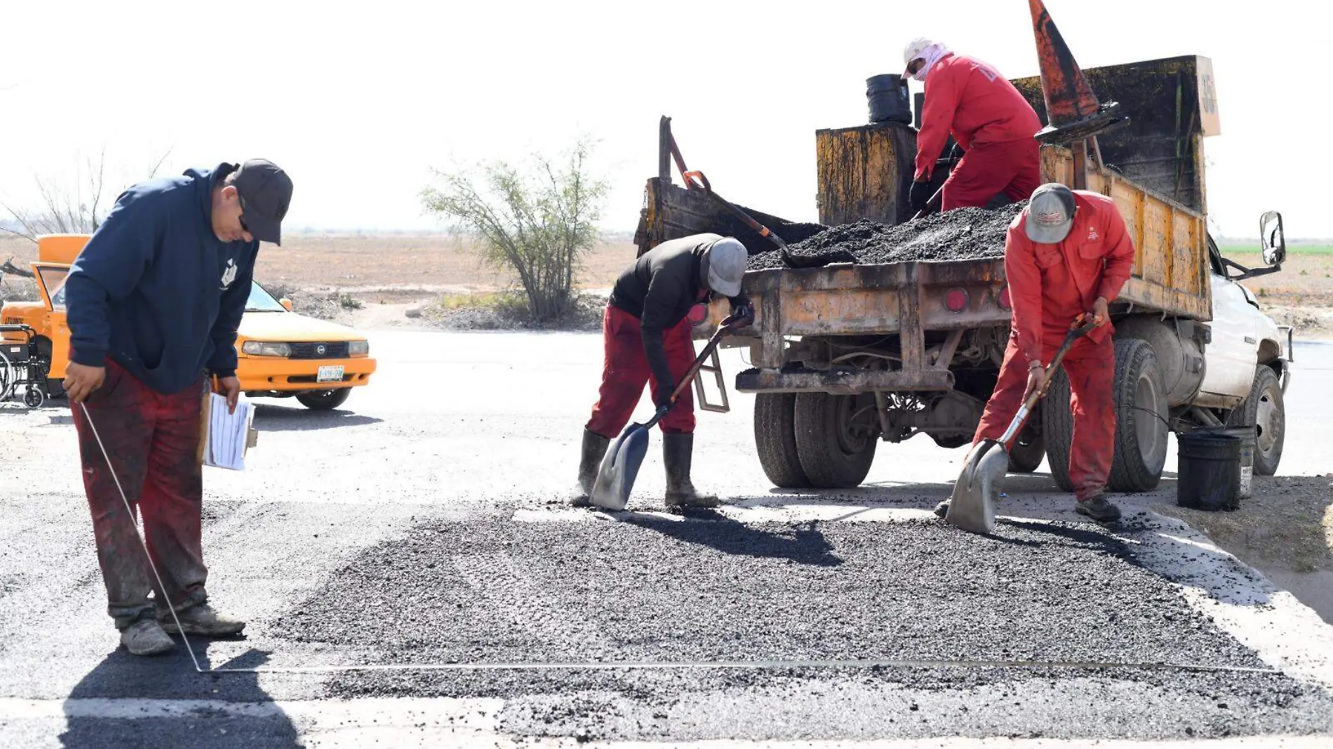
<instances>
[{"instance_id":1,"label":"shadow on asphalt cast by shoveling man in black shirt","mask_svg":"<svg viewBox=\"0 0 1333 749\"><path fill-rule=\"evenodd\" d=\"M842 560L833 554L833 545L818 530L818 524L798 522L786 532L748 525L708 509L689 510L685 522L653 514L620 513L617 520L656 530L663 536L710 546L732 556L785 558L813 566L837 566ZM689 522L706 521L706 522Z\"/></svg>"}]
</instances>

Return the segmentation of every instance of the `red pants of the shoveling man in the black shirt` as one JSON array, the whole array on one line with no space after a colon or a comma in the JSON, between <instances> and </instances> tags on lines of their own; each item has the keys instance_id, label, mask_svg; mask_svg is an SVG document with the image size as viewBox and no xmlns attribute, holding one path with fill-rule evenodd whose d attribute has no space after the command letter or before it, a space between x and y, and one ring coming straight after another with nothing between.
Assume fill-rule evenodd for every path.
<instances>
[{"instance_id":1,"label":"red pants of the shoveling man in the black shirt","mask_svg":"<svg viewBox=\"0 0 1333 749\"><path fill-rule=\"evenodd\" d=\"M686 317L663 335L666 365L670 367L676 384L680 384L689 371L689 365L694 363L694 344L689 337L690 328L689 317ZM652 382L653 392L656 392L657 378L648 368L637 317L608 304L607 315L601 321L601 336L607 348L607 363L601 372L597 405L592 406L592 418L588 420L587 428L603 437L615 438L629 422L629 416L635 412L635 405L639 404L639 398L644 393L644 385ZM685 388L680 393L676 405L666 412L659 425L663 432L673 434L694 433L694 390L692 388Z\"/></svg>"}]
</instances>

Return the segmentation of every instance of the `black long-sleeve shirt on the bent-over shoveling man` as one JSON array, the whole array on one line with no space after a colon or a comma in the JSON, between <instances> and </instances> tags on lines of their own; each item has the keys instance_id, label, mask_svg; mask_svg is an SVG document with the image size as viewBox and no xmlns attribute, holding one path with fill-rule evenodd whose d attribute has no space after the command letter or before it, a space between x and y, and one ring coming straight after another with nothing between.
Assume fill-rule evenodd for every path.
<instances>
[{"instance_id":1,"label":"black long-sleeve shirt on the bent-over shoveling man","mask_svg":"<svg viewBox=\"0 0 1333 749\"><path fill-rule=\"evenodd\" d=\"M659 384L674 384L663 333L706 299L701 272L704 251L720 239L721 235L705 233L664 241L625 268L611 292L612 307L639 317L644 355ZM744 295L732 297L733 307L744 303Z\"/></svg>"}]
</instances>

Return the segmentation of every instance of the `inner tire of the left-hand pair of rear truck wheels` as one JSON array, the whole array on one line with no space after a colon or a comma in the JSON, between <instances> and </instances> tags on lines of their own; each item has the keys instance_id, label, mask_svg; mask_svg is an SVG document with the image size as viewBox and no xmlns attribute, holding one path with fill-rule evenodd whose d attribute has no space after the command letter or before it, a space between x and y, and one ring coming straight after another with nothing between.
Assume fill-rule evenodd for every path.
<instances>
[{"instance_id":1,"label":"inner tire of the left-hand pair of rear truck wheels","mask_svg":"<svg viewBox=\"0 0 1333 749\"><path fill-rule=\"evenodd\" d=\"M850 489L865 481L878 442L874 396L798 393L796 454L810 485Z\"/></svg>"}]
</instances>

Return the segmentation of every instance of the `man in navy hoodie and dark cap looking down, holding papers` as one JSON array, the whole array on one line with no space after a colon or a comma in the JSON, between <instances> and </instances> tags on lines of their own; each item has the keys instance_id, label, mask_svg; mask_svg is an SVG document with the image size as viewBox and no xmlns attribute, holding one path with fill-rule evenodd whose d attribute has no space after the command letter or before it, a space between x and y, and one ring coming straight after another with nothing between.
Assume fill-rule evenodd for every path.
<instances>
[{"instance_id":1,"label":"man in navy hoodie and dark cap looking down, holding papers","mask_svg":"<svg viewBox=\"0 0 1333 749\"><path fill-rule=\"evenodd\" d=\"M168 606L187 634L245 628L213 610L204 590L200 410L209 378L236 408L236 328L255 256L260 241L281 244L291 199L292 180L263 159L137 184L116 200L65 281L64 384L76 404L107 612L136 656L175 646ZM143 514L165 589L156 589L121 489Z\"/></svg>"}]
</instances>

